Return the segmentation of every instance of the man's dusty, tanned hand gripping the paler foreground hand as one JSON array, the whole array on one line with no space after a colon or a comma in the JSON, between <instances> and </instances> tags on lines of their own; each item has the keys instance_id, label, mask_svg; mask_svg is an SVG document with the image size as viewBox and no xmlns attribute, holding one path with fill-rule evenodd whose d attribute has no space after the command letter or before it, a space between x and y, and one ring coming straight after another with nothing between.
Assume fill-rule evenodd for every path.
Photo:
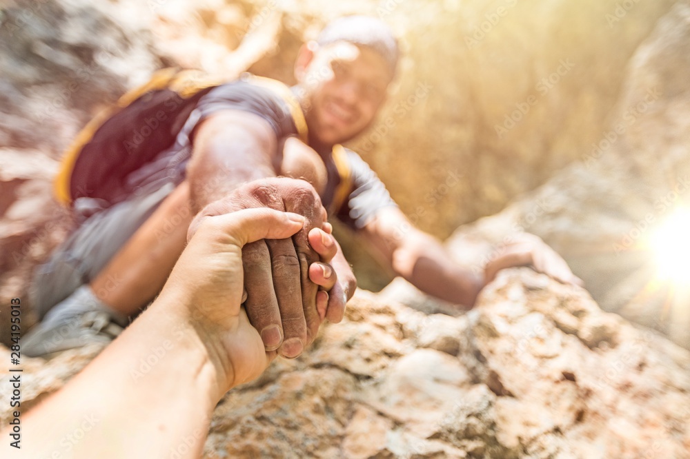
<instances>
[{"instance_id":1,"label":"man's dusty, tanned hand gripping the paler foreground hand","mask_svg":"<svg viewBox=\"0 0 690 459\"><path fill-rule=\"evenodd\" d=\"M355 290L355 276L331 235L318 194L302 180L263 179L238 187L199 212L190 225L188 240L193 240L210 217L253 208L291 212L304 222L293 233L269 233L242 248L241 302L248 320L267 352L293 358L313 342L324 318L334 323L342 320L345 304ZM216 243L222 239L215 236ZM217 258L225 260L223 254L216 254L201 257L199 262L212 263ZM211 284L213 289L222 285Z\"/></svg>"}]
</instances>

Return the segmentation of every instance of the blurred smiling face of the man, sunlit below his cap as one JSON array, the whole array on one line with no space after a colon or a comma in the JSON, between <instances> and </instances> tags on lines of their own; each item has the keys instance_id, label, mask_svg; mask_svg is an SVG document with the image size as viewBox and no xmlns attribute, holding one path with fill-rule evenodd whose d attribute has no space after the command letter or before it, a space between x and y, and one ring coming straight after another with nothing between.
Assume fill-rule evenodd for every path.
<instances>
[{"instance_id":1,"label":"blurred smiling face of the man, sunlit below his cap","mask_svg":"<svg viewBox=\"0 0 690 459\"><path fill-rule=\"evenodd\" d=\"M375 50L338 41L306 45L295 65L313 147L348 141L373 122L393 71Z\"/></svg>"}]
</instances>

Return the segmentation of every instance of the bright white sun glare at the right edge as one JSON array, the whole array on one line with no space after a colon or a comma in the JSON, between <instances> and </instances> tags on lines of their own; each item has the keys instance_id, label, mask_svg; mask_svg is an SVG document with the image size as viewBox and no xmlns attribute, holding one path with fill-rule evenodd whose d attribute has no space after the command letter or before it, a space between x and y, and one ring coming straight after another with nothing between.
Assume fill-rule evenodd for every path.
<instances>
[{"instance_id":1,"label":"bright white sun glare at the right edge","mask_svg":"<svg viewBox=\"0 0 690 459\"><path fill-rule=\"evenodd\" d=\"M652 236L661 280L690 284L690 210L679 209Z\"/></svg>"}]
</instances>

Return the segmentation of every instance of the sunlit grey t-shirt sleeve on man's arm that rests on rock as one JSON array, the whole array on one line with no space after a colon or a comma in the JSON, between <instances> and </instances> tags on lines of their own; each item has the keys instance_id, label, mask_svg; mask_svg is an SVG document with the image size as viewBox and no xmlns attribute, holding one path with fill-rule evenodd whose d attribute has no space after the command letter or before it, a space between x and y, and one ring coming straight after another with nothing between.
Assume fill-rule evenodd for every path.
<instances>
[{"instance_id":1,"label":"sunlit grey t-shirt sleeve on man's arm that rests on rock","mask_svg":"<svg viewBox=\"0 0 690 459\"><path fill-rule=\"evenodd\" d=\"M361 230L384 207L397 207L386 185L371 167L352 150L346 150L352 176L351 193L337 211L340 221L353 230Z\"/></svg>"}]
</instances>

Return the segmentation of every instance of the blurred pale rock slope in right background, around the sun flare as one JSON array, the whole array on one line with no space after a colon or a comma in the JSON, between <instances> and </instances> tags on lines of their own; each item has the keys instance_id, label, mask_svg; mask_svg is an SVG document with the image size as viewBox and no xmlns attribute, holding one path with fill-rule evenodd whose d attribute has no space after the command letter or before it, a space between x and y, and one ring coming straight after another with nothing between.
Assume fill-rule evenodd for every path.
<instances>
[{"instance_id":1,"label":"blurred pale rock slope in right background, around the sun flare","mask_svg":"<svg viewBox=\"0 0 690 459\"><path fill-rule=\"evenodd\" d=\"M651 243L664 222L689 208L688 71L690 3L681 1L635 52L609 128L582 150L582 162L500 214L460 227L447 241L457 260L480 269L516 233L537 234L603 309L690 348L688 283L660 276ZM679 262L687 274L687 260ZM439 307L404 284L396 281L386 295Z\"/></svg>"}]
</instances>

